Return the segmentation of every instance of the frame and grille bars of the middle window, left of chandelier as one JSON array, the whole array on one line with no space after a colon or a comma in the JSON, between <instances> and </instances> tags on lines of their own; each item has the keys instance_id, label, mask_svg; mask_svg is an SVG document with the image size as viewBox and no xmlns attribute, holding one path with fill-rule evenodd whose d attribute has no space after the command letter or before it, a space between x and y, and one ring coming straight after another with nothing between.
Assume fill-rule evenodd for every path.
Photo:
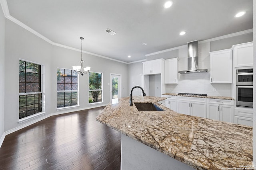
<instances>
[{"instance_id":1,"label":"frame and grille bars of the middle window, left of chandelier","mask_svg":"<svg viewBox=\"0 0 256 170\"><path fill-rule=\"evenodd\" d=\"M71 74L74 73L74 70L73 69L70 69L70 68L60 68L60 67L57 67L56 69L56 72L58 72L58 69L63 69L64 71L65 70L71 70ZM77 73L76 73L77 74ZM60 110L60 109L68 109L68 108L72 108L72 107L79 107L79 74L77 74L77 90L58 90L58 73L57 73L57 82L56 82L56 97L57 97L57 103L56 103L56 110ZM72 81L72 80L71 80ZM64 84L66 84L64 82ZM71 83L72 84L72 83ZM64 107L58 107L58 93L60 92L76 92L77 93L77 105L73 105L73 106L64 106ZM72 94L71 94L72 95ZM64 95L64 100L65 100L65 95ZM65 102L64 102L65 103Z\"/></svg>"}]
</instances>

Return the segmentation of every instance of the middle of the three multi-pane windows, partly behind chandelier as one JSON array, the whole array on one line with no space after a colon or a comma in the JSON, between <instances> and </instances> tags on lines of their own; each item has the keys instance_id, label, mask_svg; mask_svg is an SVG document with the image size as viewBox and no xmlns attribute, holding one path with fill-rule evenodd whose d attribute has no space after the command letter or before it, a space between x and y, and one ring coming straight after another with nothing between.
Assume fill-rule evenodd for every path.
<instances>
[{"instance_id":1,"label":"middle of the three multi-pane windows, partly behind chandelier","mask_svg":"<svg viewBox=\"0 0 256 170\"><path fill-rule=\"evenodd\" d=\"M78 105L78 76L74 70L57 68L57 108Z\"/></svg>"}]
</instances>

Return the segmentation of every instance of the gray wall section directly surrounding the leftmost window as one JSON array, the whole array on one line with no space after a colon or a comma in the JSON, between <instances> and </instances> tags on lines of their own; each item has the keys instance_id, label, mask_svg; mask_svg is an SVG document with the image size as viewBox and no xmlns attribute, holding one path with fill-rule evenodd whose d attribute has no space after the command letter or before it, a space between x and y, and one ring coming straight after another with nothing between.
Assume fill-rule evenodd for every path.
<instances>
[{"instance_id":1,"label":"gray wall section directly surrounding the leftmost window","mask_svg":"<svg viewBox=\"0 0 256 170\"><path fill-rule=\"evenodd\" d=\"M8 131L25 123L18 124L19 120L19 59L42 64L44 66L43 81L45 86L45 111L50 114L52 107L51 76L56 76L52 72L52 47L49 43L29 31L16 25L6 19L5 30L5 67L8 72L5 73L5 113L4 113L4 131ZM36 119L36 118L34 118ZM32 120L34 120L32 119ZM30 121L32 121L30 120ZM28 123L28 121L26 122Z\"/></svg>"}]
</instances>

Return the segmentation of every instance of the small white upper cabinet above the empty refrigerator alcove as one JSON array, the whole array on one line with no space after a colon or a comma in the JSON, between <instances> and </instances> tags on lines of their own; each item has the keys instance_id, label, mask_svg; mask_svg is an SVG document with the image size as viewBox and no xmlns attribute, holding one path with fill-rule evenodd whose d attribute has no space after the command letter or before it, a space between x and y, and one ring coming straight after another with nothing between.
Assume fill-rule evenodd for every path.
<instances>
[{"instance_id":1,"label":"small white upper cabinet above the empty refrigerator alcove","mask_svg":"<svg viewBox=\"0 0 256 170\"><path fill-rule=\"evenodd\" d=\"M163 59L143 62L143 74L161 74Z\"/></svg>"}]
</instances>

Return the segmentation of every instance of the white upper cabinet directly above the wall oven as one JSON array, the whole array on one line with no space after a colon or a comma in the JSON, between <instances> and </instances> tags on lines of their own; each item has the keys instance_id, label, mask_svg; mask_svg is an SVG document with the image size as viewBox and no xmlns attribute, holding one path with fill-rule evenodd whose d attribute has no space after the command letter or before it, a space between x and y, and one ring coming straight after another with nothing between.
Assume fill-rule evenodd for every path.
<instances>
[{"instance_id":1,"label":"white upper cabinet directly above the wall oven","mask_svg":"<svg viewBox=\"0 0 256 170\"><path fill-rule=\"evenodd\" d=\"M233 45L234 67L253 66L253 42Z\"/></svg>"}]
</instances>

